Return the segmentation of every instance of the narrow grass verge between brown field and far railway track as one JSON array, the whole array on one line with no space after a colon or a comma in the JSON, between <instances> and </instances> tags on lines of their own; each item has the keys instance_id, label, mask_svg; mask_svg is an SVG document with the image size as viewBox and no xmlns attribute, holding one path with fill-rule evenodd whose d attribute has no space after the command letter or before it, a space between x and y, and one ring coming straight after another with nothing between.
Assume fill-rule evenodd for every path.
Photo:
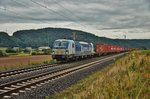
<instances>
[{"instance_id":1,"label":"narrow grass verge between brown field and far railway track","mask_svg":"<svg viewBox=\"0 0 150 99\"><path fill-rule=\"evenodd\" d=\"M33 63L28 63L28 65L15 65L15 66L0 66L0 71L7 71L7 70L13 70L13 69L20 69L20 68L27 68L27 67L33 67L35 65L42 65L42 64L54 64L56 61L54 60L46 60L42 62L33 62Z\"/></svg>"}]
</instances>

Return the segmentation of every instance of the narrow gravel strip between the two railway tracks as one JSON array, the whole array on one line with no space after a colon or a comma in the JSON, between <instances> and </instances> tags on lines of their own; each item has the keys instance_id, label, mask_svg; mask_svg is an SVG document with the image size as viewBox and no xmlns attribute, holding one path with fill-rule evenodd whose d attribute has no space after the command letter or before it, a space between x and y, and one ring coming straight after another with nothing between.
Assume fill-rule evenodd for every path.
<instances>
[{"instance_id":1,"label":"narrow gravel strip between the two railway tracks","mask_svg":"<svg viewBox=\"0 0 150 99\"><path fill-rule=\"evenodd\" d=\"M112 56L112 55L111 55ZM76 65L82 65L82 64L86 64L88 62L93 62L95 60L99 60L99 59L102 59L102 58L105 58L105 57L108 57L108 56L101 56L101 57L95 57L95 58L91 58L91 59L85 59L85 60L80 60L80 61L74 61L74 62L69 62L69 63L63 63L63 64L58 64L58 65L55 65L55 66L47 66L48 68L40 68L39 70L36 69L36 70L33 70L33 71L24 71L24 72L20 72L20 73L16 73L16 74L11 74L9 76L5 76L5 77L2 77L0 79L0 85L1 84L5 84L7 82L12 82L12 81L15 81L15 80L19 80L19 79L22 79L22 78L27 78L27 77L31 77L31 76L34 76L34 75L38 75L38 74L42 74L43 72L46 73L46 72L50 72L50 71L53 71L53 70L58 70L59 68L65 68L65 67L74 67Z\"/></svg>"}]
</instances>

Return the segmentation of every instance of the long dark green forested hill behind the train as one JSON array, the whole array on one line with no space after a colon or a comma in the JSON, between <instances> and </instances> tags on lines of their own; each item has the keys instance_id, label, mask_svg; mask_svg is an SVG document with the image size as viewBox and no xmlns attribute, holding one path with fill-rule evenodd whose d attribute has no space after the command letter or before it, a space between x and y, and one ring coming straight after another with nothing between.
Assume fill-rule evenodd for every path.
<instances>
[{"instance_id":1,"label":"long dark green forested hill behind the train","mask_svg":"<svg viewBox=\"0 0 150 99\"><path fill-rule=\"evenodd\" d=\"M13 36L9 36L7 33L0 32L0 47L39 47L50 46L54 40L60 38L72 38L73 32L77 33L77 40L93 42L94 44L112 44L125 47L146 47L150 48L150 40L147 39L109 39L105 37L98 37L91 33L87 33L79 30L65 29L65 28L43 28L43 29L31 29L20 30L13 33Z\"/></svg>"}]
</instances>

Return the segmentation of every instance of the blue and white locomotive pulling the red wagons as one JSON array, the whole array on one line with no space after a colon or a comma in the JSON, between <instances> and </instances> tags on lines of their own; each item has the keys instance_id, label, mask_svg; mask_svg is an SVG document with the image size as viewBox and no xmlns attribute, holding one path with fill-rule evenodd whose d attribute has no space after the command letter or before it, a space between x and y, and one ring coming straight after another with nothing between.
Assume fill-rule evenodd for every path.
<instances>
[{"instance_id":1,"label":"blue and white locomotive pulling the red wagons","mask_svg":"<svg viewBox=\"0 0 150 99\"><path fill-rule=\"evenodd\" d=\"M52 57L58 61L91 57L94 54L92 43L58 39L53 44Z\"/></svg>"}]
</instances>

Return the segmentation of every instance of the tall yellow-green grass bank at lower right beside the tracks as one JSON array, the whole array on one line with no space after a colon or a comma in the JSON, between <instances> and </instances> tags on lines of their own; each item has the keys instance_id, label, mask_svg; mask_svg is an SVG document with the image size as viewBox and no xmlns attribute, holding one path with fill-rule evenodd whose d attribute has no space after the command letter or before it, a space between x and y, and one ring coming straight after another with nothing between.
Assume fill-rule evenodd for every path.
<instances>
[{"instance_id":1,"label":"tall yellow-green grass bank at lower right beside the tracks","mask_svg":"<svg viewBox=\"0 0 150 99\"><path fill-rule=\"evenodd\" d=\"M149 99L150 51L136 51L79 81L53 99ZM46 97L48 99L48 96Z\"/></svg>"}]
</instances>

